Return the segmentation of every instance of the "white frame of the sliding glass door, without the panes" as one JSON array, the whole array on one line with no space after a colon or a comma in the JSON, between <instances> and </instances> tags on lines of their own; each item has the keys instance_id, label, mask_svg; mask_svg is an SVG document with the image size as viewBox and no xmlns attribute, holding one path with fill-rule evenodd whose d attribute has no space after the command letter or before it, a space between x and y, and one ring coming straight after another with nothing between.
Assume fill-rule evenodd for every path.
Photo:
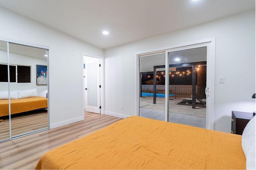
<instances>
[{"instance_id":1,"label":"white frame of the sliding glass door, without the panes","mask_svg":"<svg viewBox=\"0 0 256 170\"><path fill-rule=\"evenodd\" d=\"M206 107L206 128L214 130L214 83L215 83L215 38L205 39L205 40L198 40L196 42L184 43L180 45L174 45L172 47L152 50L152 51L144 51L136 54L136 80L135 80L135 115L140 116L140 75L139 75L139 58L150 56L150 55L157 55L157 54L165 54L165 65L169 66L169 52L173 51L180 51L184 49L193 49L198 47L207 47L207 85L206 87L209 88L209 93L206 95L208 98L208 105ZM169 67L165 67L165 72L169 72ZM165 77L165 82L169 82L169 77ZM165 96L168 96L169 86L165 85ZM165 98L165 121L168 121L169 117L169 100L168 97Z\"/></svg>"}]
</instances>

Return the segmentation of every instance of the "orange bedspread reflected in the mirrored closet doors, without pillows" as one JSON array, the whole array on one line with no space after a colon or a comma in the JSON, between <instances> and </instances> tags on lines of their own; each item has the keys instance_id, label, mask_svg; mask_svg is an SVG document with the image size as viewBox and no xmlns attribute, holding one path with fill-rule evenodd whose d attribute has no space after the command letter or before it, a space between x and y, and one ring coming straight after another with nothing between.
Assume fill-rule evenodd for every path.
<instances>
[{"instance_id":1,"label":"orange bedspread reflected in the mirrored closet doors, without pillows","mask_svg":"<svg viewBox=\"0 0 256 170\"><path fill-rule=\"evenodd\" d=\"M9 115L8 102L8 100L0 100L0 117ZM24 99L11 99L11 115L35 109L47 108L47 105L47 98L40 96Z\"/></svg>"}]
</instances>

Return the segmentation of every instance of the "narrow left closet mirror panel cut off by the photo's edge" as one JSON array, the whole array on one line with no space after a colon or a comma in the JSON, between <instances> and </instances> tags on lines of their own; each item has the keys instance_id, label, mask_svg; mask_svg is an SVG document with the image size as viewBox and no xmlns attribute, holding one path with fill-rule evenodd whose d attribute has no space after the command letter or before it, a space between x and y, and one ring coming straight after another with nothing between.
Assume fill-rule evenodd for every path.
<instances>
[{"instance_id":1,"label":"narrow left closet mirror panel cut off by the photo's edge","mask_svg":"<svg viewBox=\"0 0 256 170\"><path fill-rule=\"evenodd\" d=\"M10 138L7 42L0 41L0 142Z\"/></svg>"}]
</instances>

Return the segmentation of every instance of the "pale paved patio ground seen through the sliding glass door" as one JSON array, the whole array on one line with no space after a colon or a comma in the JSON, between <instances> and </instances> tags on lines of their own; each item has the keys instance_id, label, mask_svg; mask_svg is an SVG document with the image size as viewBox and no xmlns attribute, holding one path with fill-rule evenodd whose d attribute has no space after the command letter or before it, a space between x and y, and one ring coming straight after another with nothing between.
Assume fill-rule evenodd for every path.
<instances>
[{"instance_id":1,"label":"pale paved patio ground seen through the sliding glass door","mask_svg":"<svg viewBox=\"0 0 256 170\"><path fill-rule=\"evenodd\" d=\"M140 97L140 116L164 121L164 97ZM206 107L178 105L182 99L169 99L169 122L206 128ZM198 102L198 101L197 101Z\"/></svg>"}]
</instances>

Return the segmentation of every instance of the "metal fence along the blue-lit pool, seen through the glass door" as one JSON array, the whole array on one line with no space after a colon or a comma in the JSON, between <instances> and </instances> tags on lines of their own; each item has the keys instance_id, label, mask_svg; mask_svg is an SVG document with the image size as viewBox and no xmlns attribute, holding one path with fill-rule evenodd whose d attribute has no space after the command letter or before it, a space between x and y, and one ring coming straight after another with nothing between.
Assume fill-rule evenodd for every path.
<instances>
[{"instance_id":1,"label":"metal fence along the blue-lit pool, seen through the glass door","mask_svg":"<svg viewBox=\"0 0 256 170\"><path fill-rule=\"evenodd\" d=\"M142 85L141 92L142 96L152 96L154 91L153 85ZM161 95L165 93L164 85L156 85L156 93ZM192 97L192 85L169 85L169 96L170 97Z\"/></svg>"}]
</instances>

